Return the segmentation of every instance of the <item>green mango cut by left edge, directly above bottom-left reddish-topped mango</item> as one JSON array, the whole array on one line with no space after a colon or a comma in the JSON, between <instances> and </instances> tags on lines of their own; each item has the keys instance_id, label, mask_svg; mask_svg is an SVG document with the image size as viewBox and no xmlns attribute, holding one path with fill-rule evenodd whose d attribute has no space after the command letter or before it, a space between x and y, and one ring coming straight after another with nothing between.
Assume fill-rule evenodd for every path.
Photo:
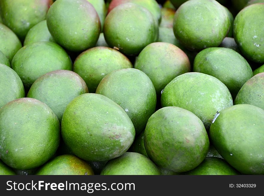
<instances>
[{"instance_id":1,"label":"green mango cut by left edge, directly above bottom-left reddish-topped mango","mask_svg":"<svg viewBox=\"0 0 264 196\"><path fill-rule=\"evenodd\" d=\"M0 108L25 96L24 86L17 73L10 67L0 64Z\"/></svg>"}]
</instances>

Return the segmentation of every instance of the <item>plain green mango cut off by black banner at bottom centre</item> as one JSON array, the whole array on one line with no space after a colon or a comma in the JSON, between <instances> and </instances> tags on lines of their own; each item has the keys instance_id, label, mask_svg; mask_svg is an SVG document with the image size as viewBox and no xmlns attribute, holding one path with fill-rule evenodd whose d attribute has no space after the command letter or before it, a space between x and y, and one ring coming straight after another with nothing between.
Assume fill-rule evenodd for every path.
<instances>
[{"instance_id":1,"label":"plain green mango cut off by black banner at bottom centre","mask_svg":"<svg viewBox=\"0 0 264 196\"><path fill-rule=\"evenodd\" d=\"M161 173L146 156L137 152L125 152L121 157L108 161L101 175L161 175Z\"/></svg>"}]
</instances>

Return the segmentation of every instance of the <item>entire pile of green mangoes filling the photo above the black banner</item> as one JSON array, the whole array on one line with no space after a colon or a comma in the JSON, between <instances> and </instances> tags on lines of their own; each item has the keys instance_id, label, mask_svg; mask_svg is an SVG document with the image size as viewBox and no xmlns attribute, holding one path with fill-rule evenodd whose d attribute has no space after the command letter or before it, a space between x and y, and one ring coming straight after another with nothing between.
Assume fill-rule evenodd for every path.
<instances>
[{"instance_id":1,"label":"entire pile of green mangoes filling the photo above the black banner","mask_svg":"<svg viewBox=\"0 0 264 196\"><path fill-rule=\"evenodd\" d=\"M264 175L263 64L263 0L0 0L0 175Z\"/></svg>"}]
</instances>

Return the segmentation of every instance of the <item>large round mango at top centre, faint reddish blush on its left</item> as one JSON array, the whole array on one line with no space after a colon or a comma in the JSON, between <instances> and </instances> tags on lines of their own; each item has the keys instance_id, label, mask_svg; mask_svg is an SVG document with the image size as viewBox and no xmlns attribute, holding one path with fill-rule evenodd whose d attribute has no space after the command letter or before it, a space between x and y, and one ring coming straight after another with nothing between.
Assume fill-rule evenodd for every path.
<instances>
[{"instance_id":1,"label":"large round mango at top centre, faint reddish blush on its left","mask_svg":"<svg viewBox=\"0 0 264 196\"><path fill-rule=\"evenodd\" d=\"M114 8L104 23L104 38L110 47L125 55L136 56L158 40L158 22L144 7L124 3Z\"/></svg>"}]
</instances>

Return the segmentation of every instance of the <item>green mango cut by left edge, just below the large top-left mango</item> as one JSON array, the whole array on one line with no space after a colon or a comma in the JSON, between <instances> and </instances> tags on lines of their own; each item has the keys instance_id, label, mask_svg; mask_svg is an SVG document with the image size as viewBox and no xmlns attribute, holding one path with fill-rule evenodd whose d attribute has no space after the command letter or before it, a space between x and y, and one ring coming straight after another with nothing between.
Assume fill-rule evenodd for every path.
<instances>
[{"instance_id":1,"label":"green mango cut by left edge, just below the large top-left mango","mask_svg":"<svg viewBox=\"0 0 264 196\"><path fill-rule=\"evenodd\" d=\"M0 50L9 62L12 61L13 56L21 47L22 44L16 34L7 26L0 23Z\"/></svg>"}]
</instances>

